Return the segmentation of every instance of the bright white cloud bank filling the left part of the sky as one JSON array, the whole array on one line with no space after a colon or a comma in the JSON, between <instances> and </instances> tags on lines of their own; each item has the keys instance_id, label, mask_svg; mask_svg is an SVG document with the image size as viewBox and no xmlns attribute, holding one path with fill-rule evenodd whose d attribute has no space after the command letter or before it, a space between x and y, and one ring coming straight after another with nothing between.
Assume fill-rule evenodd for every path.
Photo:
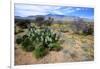
<instances>
[{"instance_id":1,"label":"bright white cloud bank filling the left part of the sky","mask_svg":"<svg viewBox=\"0 0 100 69\"><path fill-rule=\"evenodd\" d=\"M21 15L45 15L49 12L59 9L58 6L41 6L41 5L20 5L15 4L15 13L20 12Z\"/></svg>"}]
</instances>

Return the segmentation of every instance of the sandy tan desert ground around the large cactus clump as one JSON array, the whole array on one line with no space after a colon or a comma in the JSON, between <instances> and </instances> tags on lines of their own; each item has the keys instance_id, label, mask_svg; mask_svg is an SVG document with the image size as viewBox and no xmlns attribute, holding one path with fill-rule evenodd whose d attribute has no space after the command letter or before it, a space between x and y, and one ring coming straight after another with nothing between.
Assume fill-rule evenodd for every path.
<instances>
[{"instance_id":1,"label":"sandy tan desert ground around the large cactus clump","mask_svg":"<svg viewBox=\"0 0 100 69\"><path fill-rule=\"evenodd\" d=\"M57 27L56 25L51 26ZM59 28L59 27L58 27ZM55 29L57 31L59 29ZM20 30L16 27L16 30ZM23 29L15 35L23 36L27 29ZM21 49L21 44L15 42L15 65L28 64L47 64L47 63L62 63L62 62L80 62L94 60L94 36L81 35L73 32L60 32L61 47L60 51L50 51L47 55L37 59L32 52L26 52Z\"/></svg>"}]
</instances>

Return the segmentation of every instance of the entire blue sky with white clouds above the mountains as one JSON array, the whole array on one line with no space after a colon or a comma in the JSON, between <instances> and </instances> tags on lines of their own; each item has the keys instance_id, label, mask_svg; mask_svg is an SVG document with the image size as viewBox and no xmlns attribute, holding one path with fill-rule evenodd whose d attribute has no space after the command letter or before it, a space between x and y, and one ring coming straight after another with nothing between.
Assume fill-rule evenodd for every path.
<instances>
[{"instance_id":1,"label":"entire blue sky with white clouds above the mountains","mask_svg":"<svg viewBox=\"0 0 100 69\"><path fill-rule=\"evenodd\" d=\"M15 16L22 17L47 14L78 16L89 19L94 17L94 9L86 7L15 4L14 10Z\"/></svg>"}]
</instances>

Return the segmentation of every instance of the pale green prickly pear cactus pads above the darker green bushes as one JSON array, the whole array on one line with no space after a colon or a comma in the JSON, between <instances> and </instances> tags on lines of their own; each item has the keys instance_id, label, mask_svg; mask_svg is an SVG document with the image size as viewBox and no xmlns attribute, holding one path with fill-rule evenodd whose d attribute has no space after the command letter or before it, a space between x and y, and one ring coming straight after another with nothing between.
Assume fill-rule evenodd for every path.
<instances>
[{"instance_id":1,"label":"pale green prickly pear cactus pads above the darker green bushes","mask_svg":"<svg viewBox=\"0 0 100 69\"><path fill-rule=\"evenodd\" d=\"M53 43L57 44L59 41L59 36L52 32L49 28L42 30L31 28L29 30L28 37L32 40L32 42L35 42L37 45L42 45L46 48L50 48L50 45Z\"/></svg>"}]
</instances>

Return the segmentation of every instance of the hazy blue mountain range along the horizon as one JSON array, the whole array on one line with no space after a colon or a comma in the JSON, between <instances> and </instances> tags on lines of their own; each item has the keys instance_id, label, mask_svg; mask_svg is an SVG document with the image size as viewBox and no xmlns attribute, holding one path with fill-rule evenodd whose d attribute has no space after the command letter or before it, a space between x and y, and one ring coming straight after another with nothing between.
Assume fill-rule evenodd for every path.
<instances>
[{"instance_id":1,"label":"hazy blue mountain range along the horizon","mask_svg":"<svg viewBox=\"0 0 100 69\"><path fill-rule=\"evenodd\" d=\"M57 14L31 15L31 16L27 16L27 17L15 16L15 19L35 20L35 18L38 16L43 16L43 17L45 17L45 19L48 19L48 17L51 17L54 19L54 21L74 21L74 20L79 20L79 19L83 19L84 21L87 21L87 22L94 21L93 19L81 18L78 16L65 16L65 15L57 15Z\"/></svg>"}]
</instances>

